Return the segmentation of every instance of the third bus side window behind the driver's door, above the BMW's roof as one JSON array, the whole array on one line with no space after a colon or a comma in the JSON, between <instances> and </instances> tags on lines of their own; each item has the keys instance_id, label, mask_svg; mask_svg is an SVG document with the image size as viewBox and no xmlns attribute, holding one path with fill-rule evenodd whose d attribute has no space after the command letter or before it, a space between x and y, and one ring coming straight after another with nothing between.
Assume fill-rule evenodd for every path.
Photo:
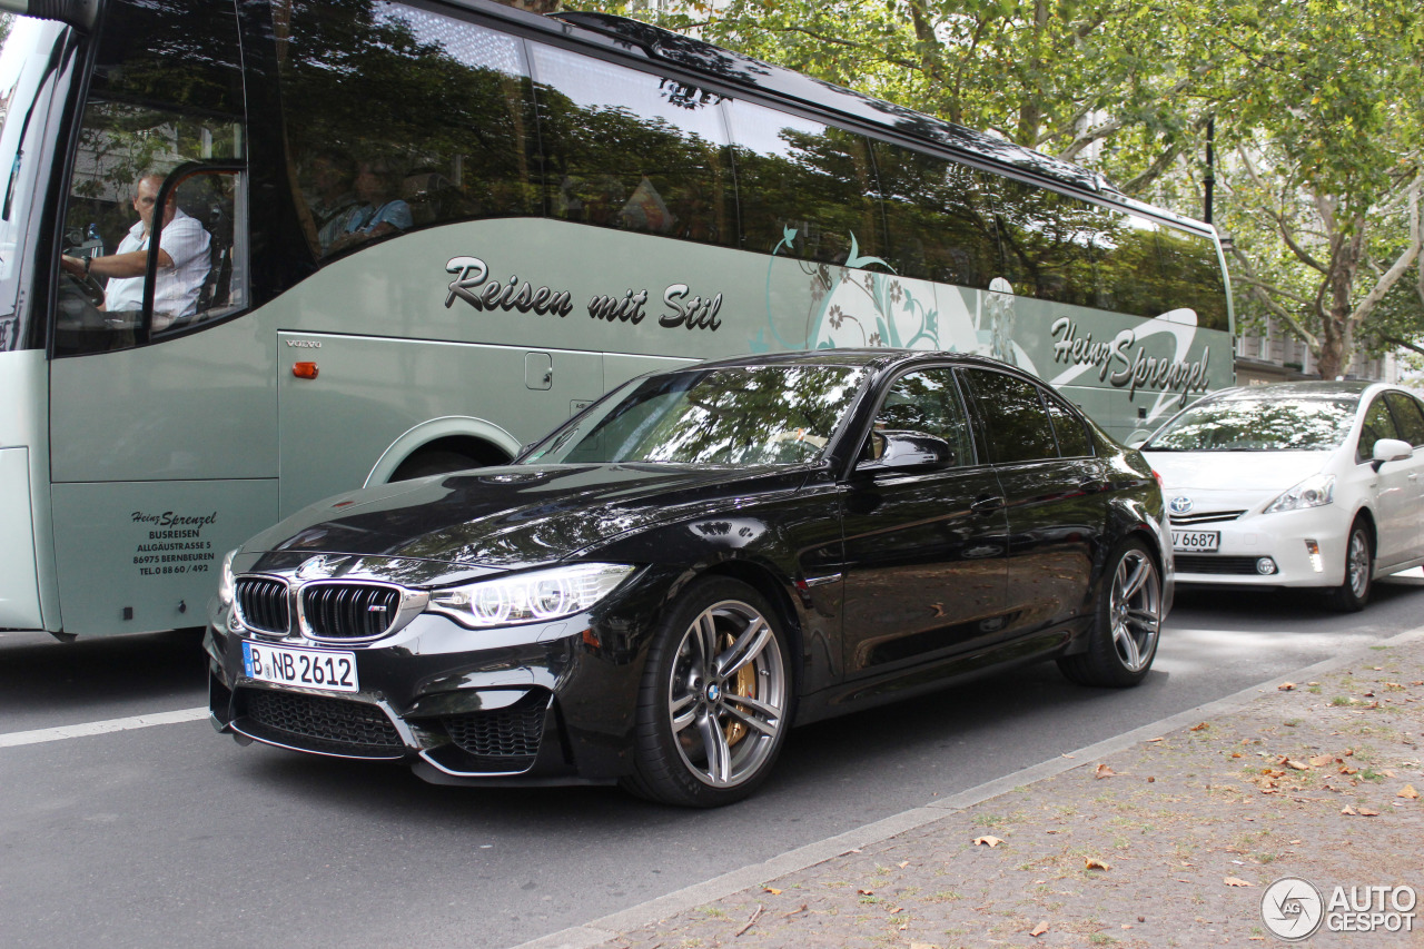
<instances>
[{"instance_id":1,"label":"third bus side window behind the driver's door, above the BMW's roof","mask_svg":"<svg viewBox=\"0 0 1424 949\"><path fill-rule=\"evenodd\" d=\"M862 135L742 101L729 103L728 117L742 248L823 264L886 252Z\"/></svg>"}]
</instances>

